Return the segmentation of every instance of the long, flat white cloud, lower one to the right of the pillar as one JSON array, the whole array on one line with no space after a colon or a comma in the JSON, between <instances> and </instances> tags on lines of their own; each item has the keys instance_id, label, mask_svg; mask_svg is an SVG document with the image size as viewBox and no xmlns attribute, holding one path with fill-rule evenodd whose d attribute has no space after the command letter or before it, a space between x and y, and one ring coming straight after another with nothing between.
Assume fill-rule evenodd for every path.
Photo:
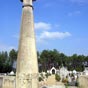
<instances>
[{"instance_id":1,"label":"long, flat white cloud, lower one to the right of the pillar","mask_svg":"<svg viewBox=\"0 0 88 88\"><path fill-rule=\"evenodd\" d=\"M69 36L71 36L71 34L69 32L48 32L48 31L45 31L45 32L41 33L40 36L37 36L37 38L40 40L64 39Z\"/></svg>"}]
</instances>

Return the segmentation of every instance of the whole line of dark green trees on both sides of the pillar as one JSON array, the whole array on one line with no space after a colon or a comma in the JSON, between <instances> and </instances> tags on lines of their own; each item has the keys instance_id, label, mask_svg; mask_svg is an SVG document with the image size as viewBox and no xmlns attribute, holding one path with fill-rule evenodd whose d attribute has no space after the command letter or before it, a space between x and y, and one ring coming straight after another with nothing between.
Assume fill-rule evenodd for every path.
<instances>
[{"instance_id":1,"label":"whole line of dark green trees on both sides of the pillar","mask_svg":"<svg viewBox=\"0 0 88 88\"><path fill-rule=\"evenodd\" d=\"M9 55L8 55L9 53ZM10 52L0 52L0 72L8 72L12 70L14 61L17 59L17 51L12 49ZM56 49L53 50L43 50L42 52L37 52L38 62L40 64L39 71L46 72L55 67L66 66L68 70L73 71L84 71L84 62L88 62L88 56L73 54L72 56L66 56L64 53L60 53Z\"/></svg>"}]
</instances>

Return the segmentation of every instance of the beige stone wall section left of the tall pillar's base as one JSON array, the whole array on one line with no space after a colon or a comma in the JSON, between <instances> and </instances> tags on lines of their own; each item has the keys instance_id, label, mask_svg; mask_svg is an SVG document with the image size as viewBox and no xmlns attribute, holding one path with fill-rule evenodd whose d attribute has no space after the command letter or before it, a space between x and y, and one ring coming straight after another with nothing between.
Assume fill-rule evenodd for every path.
<instances>
[{"instance_id":1,"label":"beige stone wall section left of the tall pillar's base","mask_svg":"<svg viewBox=\"0 0 88 88\"><path fill-rule=\"evenodd\" d=\"M15 76L0 76L0 88L15 88Z\"/></svg>"}]
</instances>

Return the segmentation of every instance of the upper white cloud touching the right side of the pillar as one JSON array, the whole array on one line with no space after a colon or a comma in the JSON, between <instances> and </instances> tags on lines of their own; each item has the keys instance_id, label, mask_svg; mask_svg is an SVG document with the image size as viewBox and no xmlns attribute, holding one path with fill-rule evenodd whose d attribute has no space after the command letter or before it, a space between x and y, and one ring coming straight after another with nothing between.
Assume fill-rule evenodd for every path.
<instances>
[{"instance_id":1,"label":"upper white cloud touching the right side of the pillar","mask_svg":"<svg viewBox=\"0 0 88 88\"><path fill-rule=\"evenodd\" d=\"M51 24L49 23L45 23L45 22L38 22L38 23L35 23L35 29L39 29L39 30L49 30L51 29Z\"/></svg>"}]
</instances>

